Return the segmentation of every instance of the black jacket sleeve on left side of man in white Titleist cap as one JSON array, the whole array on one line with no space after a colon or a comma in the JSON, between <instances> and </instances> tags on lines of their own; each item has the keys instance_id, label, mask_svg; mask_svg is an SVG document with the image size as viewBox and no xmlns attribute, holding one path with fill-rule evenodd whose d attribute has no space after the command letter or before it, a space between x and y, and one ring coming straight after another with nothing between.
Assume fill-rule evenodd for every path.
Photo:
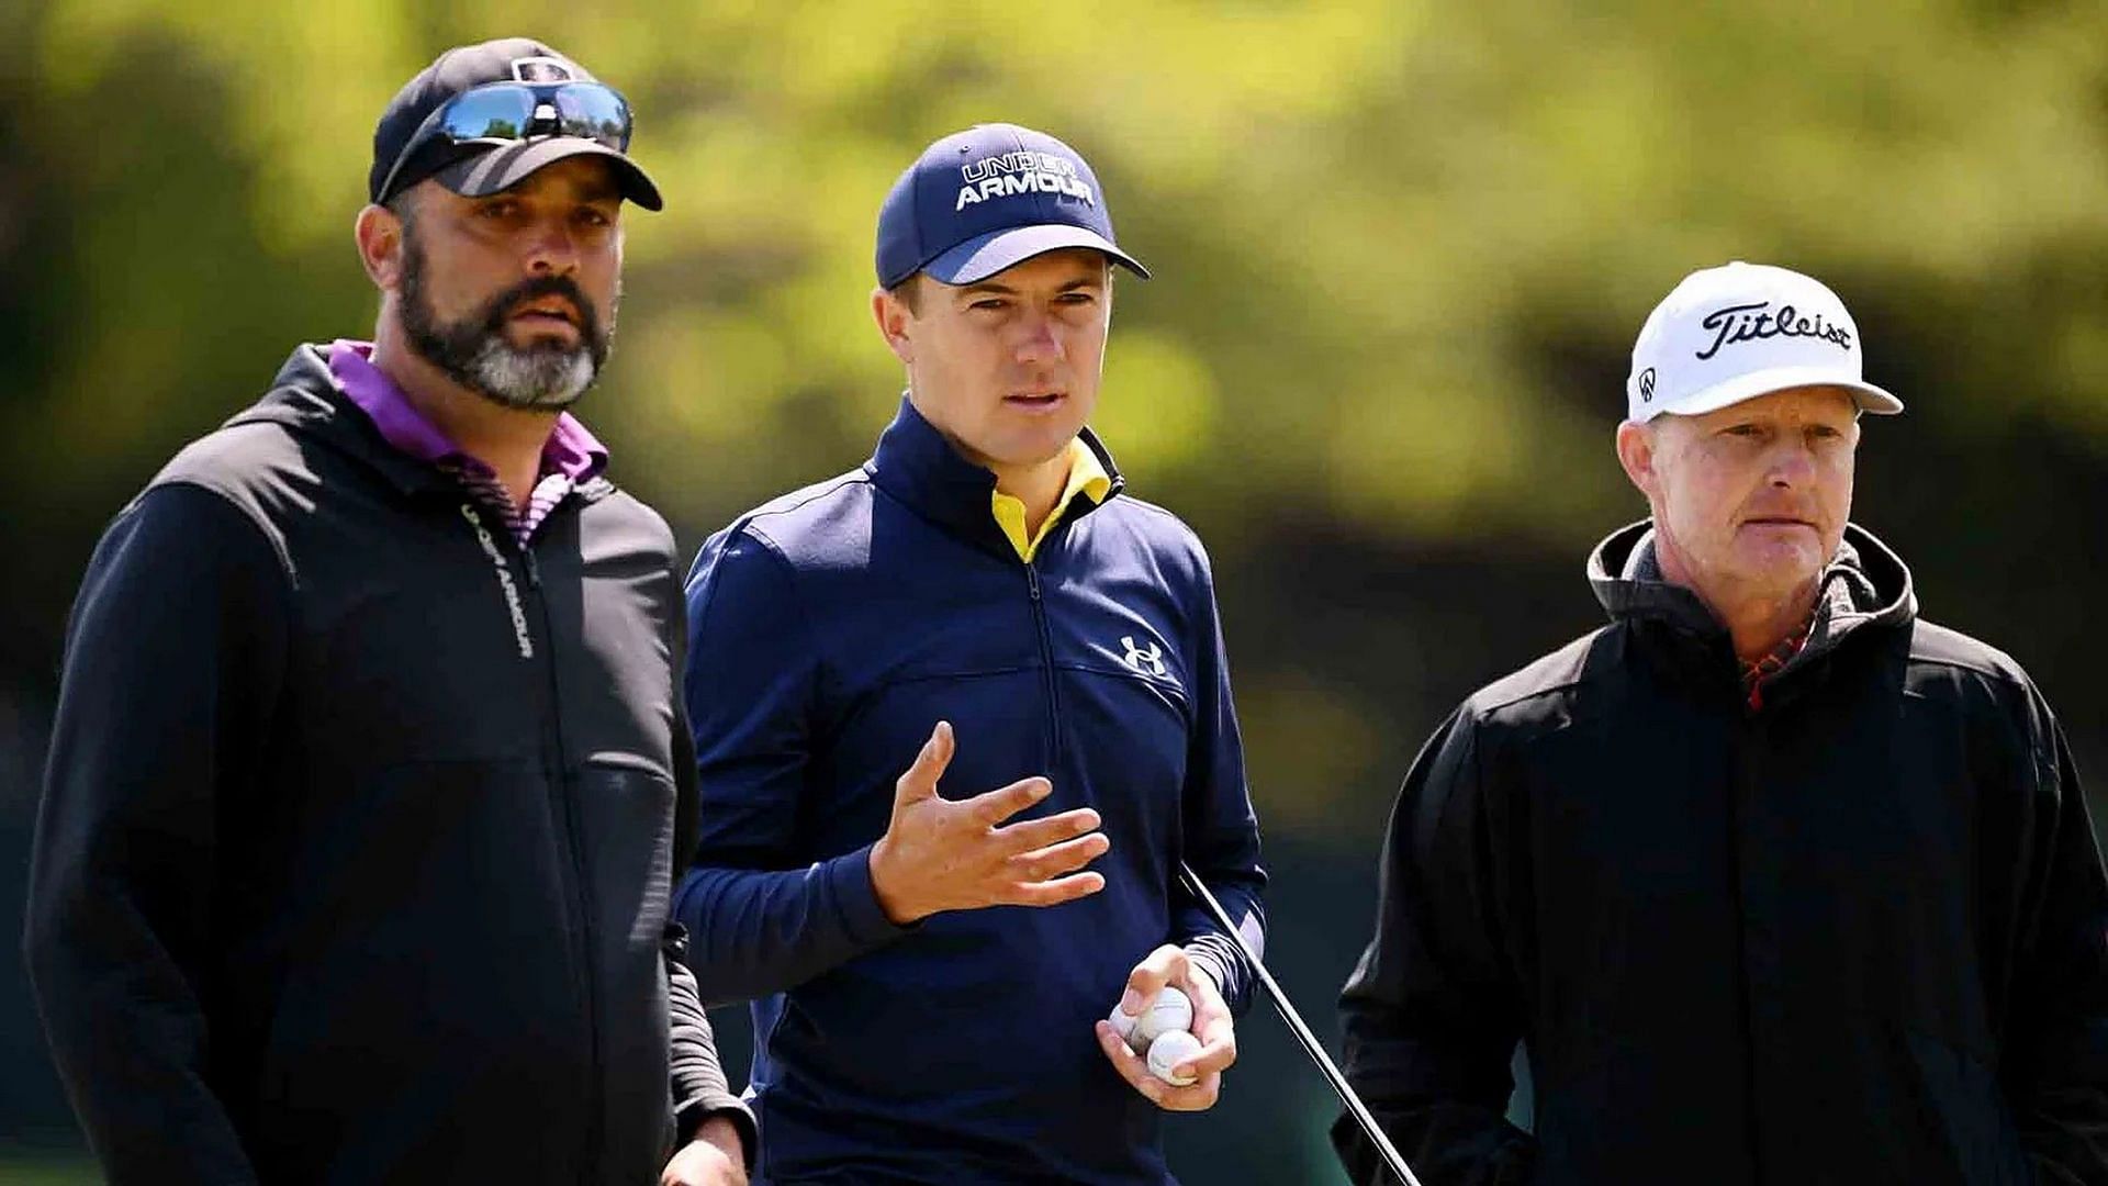
<instances>
[{"instance_id":1,"label":"black jacket sleeve on left side of man in white Titleist cap","mask_svg":"<svg viewBox=\"0 0 2108 1186\"><path fill-rule=\"evenodd\" d=\"M1427 1182L1520 1186L1535 1142L1505 1118L1520 994L1503 958L1478 730L1450 715L1398 793L1379 867L1377 935L1341 994L1345 1074ZM1341 1116L1353 1182L1389 1171Z\"/></svg>"}]
</instances>

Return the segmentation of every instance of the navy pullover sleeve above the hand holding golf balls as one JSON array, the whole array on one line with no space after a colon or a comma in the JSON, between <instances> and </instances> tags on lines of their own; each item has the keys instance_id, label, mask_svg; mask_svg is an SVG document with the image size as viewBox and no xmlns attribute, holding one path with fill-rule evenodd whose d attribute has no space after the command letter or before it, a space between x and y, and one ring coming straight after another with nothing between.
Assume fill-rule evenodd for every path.
<instances>
[{"instance_id":1,"label":"navy pullover sleeve above the hand holding golf balls","mask_svg":"<svg viewBox=\"0 0 2108 1186\"><path fill-rule=\"evenodd\" d=\"M1199 572L1202 606L1195 610L1195 620L1204 631L1195 644L1195 728L1183 793L1187 838L1183 857L1237 924L1244 943L1265 958L1267 914L1261 895L1267 874L1258 867L1258 817L1244 783L1244 741L1237 734L1237 707L1229 694L1223 616L1214 604L1214 580L1208 576L1206 557ZM1242 1015L1252 1005L1256 979L1244 948L1185 886L1172 886L1172 905L1174 939L1214 977L1231 1013Z\"/></svg>"}]
</instances>

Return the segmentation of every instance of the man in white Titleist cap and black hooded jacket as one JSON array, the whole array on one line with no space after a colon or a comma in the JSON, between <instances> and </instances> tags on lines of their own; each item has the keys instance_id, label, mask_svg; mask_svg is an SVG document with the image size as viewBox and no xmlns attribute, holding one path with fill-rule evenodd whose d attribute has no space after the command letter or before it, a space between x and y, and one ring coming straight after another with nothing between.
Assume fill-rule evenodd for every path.
<instances>
[{"instance_id":1,"label":"man in white Titleist cap and black hooded jacket","mask_svg":"<svg viewBox=\"0 0 2108 1186\"><path fill-rule=\"evenodd\" d=\"M1617 456L1653 517L1589 559L1611 625L1421 751L1341 998L1427 1182L2108 1182L2070 749L1847 521L1859 414L1901 407L1798 272L1695 272L1648 317Z\"/></svg>"}]
</instances>

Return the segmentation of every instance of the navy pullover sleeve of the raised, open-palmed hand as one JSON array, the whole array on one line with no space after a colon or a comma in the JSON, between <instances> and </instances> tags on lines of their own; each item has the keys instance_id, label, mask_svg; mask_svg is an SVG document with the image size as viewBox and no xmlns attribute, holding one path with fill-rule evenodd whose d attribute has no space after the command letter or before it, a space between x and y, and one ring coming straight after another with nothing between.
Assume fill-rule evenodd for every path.
<instances>
[{"instance_id":1,"label":"navy pullover sleeve of the raised, open-palmed hand","mask_svg":"<svg viewBox=\"0 0 2108 1186\"><path fill-rule=\"evenodd\" d=\"M799 865L818 646L790 566L753 534L713 536L687 582L683 690L700 838L675 895L706 1005L805 983L911 926L871 886L871 846Z\"/></svg>"}]
</instances>

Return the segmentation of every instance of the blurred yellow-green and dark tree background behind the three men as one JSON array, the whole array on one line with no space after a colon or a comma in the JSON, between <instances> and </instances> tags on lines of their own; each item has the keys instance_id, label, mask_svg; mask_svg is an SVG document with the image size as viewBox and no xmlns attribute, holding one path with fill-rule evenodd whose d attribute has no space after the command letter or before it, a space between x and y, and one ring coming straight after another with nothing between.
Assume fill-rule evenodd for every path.
<instances>
[{"instance_id":1,"label":"blurred yellow-green and dark tree background behind the three men","mask_svg":"<svg viewBox=\"0 0 2108 1186\"><path fill-rule=\"evenodd\" d=\"M1646 310L1724 260L1826 279L1870 378L1857 519L1927 616L2015 654L2108 787L2102 4L15 0L0 8L0 914L19 918L59 637L108 517L301 340L367 336L371 129L457 42L624 89L632 211L582 405L683 551L860 462L898 369L879 198L930 139L1048 129L1121 243L1098 428L1216 557L1267 834L1271 960L1315 1028L1368 935L1398 777L1478 684L1600 623L1589 544ZM112 737L110 745L124 745ZM1644 768L1638 755L1636 768ZM11 950L15 945L11 943ZM78 1169L19 960L0 1175ZM744 1047L744 1019L719 1017ZM1332 1182L1265 1015L1189 1182ZM65 1169L76 1165L76 1169ZM15 1180L15 1178L11 1178Z\"/></svg>"}]
</instances>

